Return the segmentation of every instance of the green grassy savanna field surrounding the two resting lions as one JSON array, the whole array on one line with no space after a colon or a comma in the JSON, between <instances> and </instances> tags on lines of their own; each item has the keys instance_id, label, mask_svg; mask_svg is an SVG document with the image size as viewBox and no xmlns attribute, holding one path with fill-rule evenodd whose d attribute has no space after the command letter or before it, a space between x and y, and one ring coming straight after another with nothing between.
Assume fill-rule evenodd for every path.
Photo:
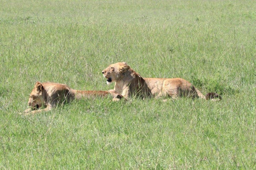
<instances>
[{"instance_id":1,"label":"green grassy savanna field surrounding the two resting lions","mask_svg":"<svg viewBox=\"0 0 256 170\"><path fill-rule=\"evenodd\" d=\"M256 3L0 1L0 169L256 169ZM181 77L222 101L75 100L20 115L36 81Z\"/></svg>"}]
</instances>

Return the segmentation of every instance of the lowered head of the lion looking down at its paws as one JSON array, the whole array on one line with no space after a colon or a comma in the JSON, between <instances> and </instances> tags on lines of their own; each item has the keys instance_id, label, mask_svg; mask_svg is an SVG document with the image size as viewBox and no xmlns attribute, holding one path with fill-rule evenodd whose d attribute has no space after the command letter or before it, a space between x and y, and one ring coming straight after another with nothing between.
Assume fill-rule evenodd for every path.
<instances>
[{"instance_id":1,"label":"lowered head of the lion looking down at its paws","mask_svg":"<svg viewBox=\"0 0 256 170\"><path fill-rule=\"evenodd\" d=\"M40 108L45 101L44 97L44 87L38 81L30 94L30 98L28 99L28 105L31 106L32 109Z\"/></svg>"}]
</instances>

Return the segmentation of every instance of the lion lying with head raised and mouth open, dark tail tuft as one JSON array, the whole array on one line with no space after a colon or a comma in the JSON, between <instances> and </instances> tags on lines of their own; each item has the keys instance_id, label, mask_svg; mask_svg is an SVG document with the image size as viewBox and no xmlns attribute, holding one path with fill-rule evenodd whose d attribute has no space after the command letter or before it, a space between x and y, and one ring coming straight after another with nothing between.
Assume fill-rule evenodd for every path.
<instances>
[{"instance_id":1,"label":"lion lying with head raised and mouth open, dark tail tuft","mask_svg":"<svg viewBox=\"0 0 256 170\"><path fill-rule=\"evenodd\" d=\"M126 62L114 63L102 71L107 84L115 82L114 91L128 99L131 96L145 97L192 97L220 101L221 96L208 93L204 96L190 82L182 78L142 78ZM213 99L218 97L218 99Z\"/></svg>"}]
</instances>

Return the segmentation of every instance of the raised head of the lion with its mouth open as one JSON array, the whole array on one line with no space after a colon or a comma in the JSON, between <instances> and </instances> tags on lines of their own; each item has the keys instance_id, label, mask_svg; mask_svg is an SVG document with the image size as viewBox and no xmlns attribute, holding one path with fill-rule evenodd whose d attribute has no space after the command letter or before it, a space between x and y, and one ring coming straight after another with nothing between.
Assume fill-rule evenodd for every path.
<instances>
[{"instance_id":1,"label":"raised head of the lion with its mouth open","mask_svg":"<svg viewBox=\"0 0 256 170\"><path fill-rule=\"evenodd\" d=\"M116 82L122 79L122 75L130 68L126 62L114 63L102 71L103 76L107 79L107 84L110 85L113 81Z\"/></svg>"}]
</instances>

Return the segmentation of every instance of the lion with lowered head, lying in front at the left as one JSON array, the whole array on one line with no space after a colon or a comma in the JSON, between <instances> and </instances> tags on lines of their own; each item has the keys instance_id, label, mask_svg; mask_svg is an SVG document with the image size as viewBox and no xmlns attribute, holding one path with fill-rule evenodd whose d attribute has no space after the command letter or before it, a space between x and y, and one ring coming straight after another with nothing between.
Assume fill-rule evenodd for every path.
<instances>
[{"instance_id":1,"label":"lion with lowered head, lying in front at the left","mask_svg":"<svg viewBox=\"0 0 256 170\"><path fill-rule=\"evenodd\" d=\"M50 111L57 104L64 104L74 99L81 99L82 97L105 97L107 95L113 97L113 101L118 101L122 98L114 90L108 91L86 91L86 90L74 90L65 84L59 83L40 83L36 82L34 88L28 99L28 105L31 107L24 112L27 114L39 113L42 111ZM40 109L42 106L46 107Z\"/></svg>"}]
</instances>

